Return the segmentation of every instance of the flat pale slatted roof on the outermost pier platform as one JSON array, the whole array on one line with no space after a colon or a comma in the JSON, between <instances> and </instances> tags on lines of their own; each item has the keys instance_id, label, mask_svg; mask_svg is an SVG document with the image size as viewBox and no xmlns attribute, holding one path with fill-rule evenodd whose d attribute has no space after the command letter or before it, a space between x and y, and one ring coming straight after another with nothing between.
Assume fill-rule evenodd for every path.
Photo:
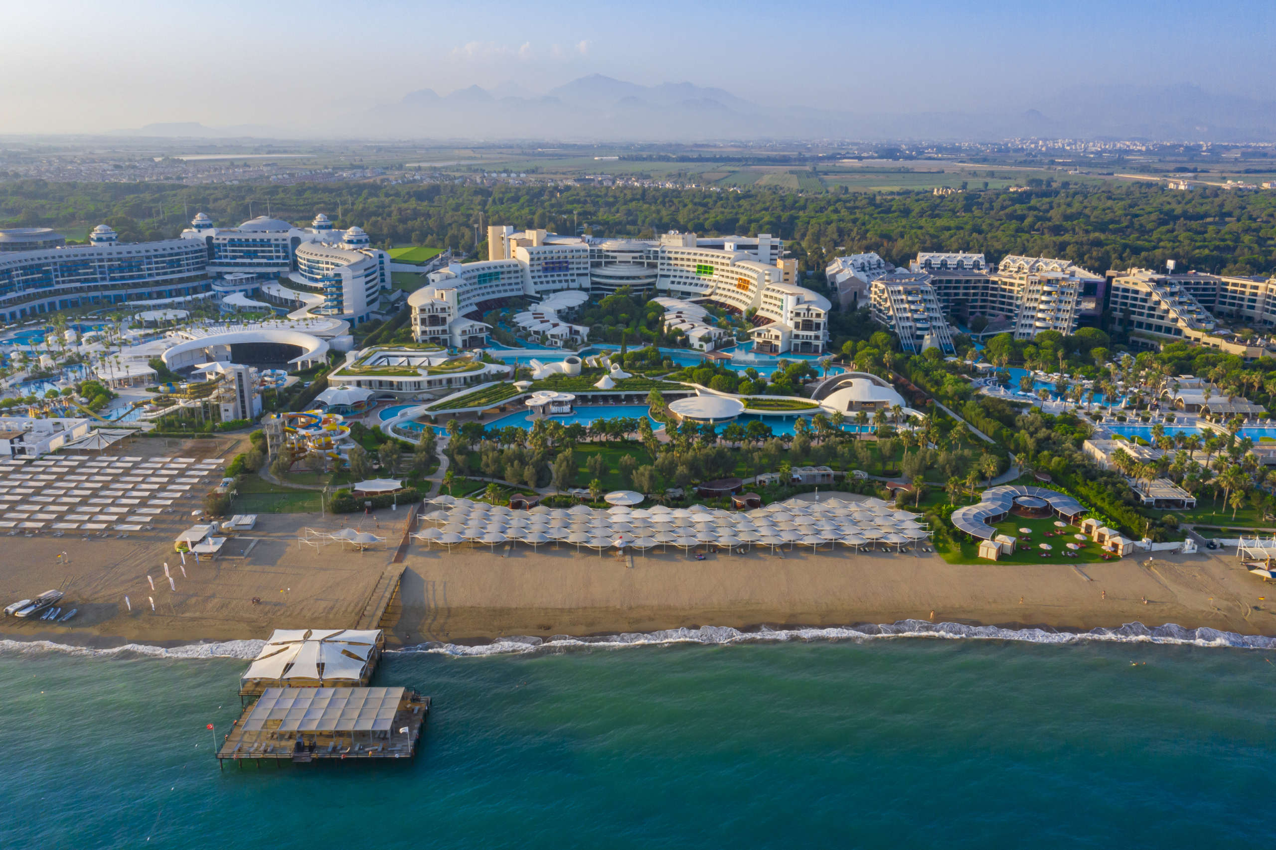
<instances>
[{"instance_id":1,"label":"flat pale slatted roof on the outermost pier platform","mask_svg":"<svg viewBox=\"0 0 1276 850\"><path fill-rule=\"evenodd\" d=\"M245 731L385 731L403 688L267 688L244 721Z\"/></svg>"}]
</instances>

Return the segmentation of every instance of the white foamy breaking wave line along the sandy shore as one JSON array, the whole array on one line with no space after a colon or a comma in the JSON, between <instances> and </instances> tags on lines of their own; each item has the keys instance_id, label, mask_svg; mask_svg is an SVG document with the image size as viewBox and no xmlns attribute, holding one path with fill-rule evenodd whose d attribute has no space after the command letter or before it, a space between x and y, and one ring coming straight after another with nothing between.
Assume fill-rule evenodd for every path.
<instances>
[{"instance_id":1,"label":"white foamy breaking wave line along the sandy shore","mask_svg":"<svg viewBox=\"0 0 1276 850\"><path fill-rule=\"evenodd\" d=\"M634 646L669 646L675 643L701 643L727 646L732 643L777 643L783 641L870 641L882 638L937 638L1022 641L1025 643L1082 643L1087 641L1109 643L1166 643L1201 647L1235 647L1243 650L1276 648L1276 638L1261 634L1236 634L1219 629L1185 629L1174 623L1148 628L1142 623L1127 623L1120 628L1096 628L1088 632L1054 632L1045 629L1003 629L995 625L965 625L962 623L930 623L928 620L898 620L882 625L855 625L831 628L769 629L741 632L723 625L706 625L698 629L662 629L658 632L627 632L604 637L569 637L556 634L549 639L514 636L503 637L480 646L461 646L427 641L388 653L429 652L450 656L489 656L526 652L546 652L590 648L623 648ZM52 641L0 639L0 656L63 653L80 657L152 657L152 659L254 659L265 641L223 641L193 643L177 647L126 643L108 650L68 646Z\"/></svg>"}]
</instances>

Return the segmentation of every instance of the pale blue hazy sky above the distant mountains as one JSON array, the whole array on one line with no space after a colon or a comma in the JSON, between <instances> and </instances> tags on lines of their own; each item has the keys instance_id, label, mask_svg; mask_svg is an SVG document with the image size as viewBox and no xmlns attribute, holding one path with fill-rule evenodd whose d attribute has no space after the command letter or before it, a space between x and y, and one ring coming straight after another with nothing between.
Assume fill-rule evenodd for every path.
<instances>
[{"instance_id":1,"label":"pale blue hazy sky above the distant mountains","mask_svg":"<svg viewBox=\"0 0 1276 850\"><path fill-rule=\"evenodd\" d=\"M847 111L1022 110L1073 86L1272 100L1276 3L152 3L5 5L0 134L305 126L433 88L600 73Z\"/></svg>"}]
</instances>

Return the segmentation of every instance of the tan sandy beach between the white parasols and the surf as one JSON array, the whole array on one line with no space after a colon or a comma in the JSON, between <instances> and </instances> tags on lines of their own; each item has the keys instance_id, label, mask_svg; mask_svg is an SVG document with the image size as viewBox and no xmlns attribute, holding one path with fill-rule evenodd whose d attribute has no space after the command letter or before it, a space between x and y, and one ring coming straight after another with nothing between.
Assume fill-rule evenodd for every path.
<instances>
[{"instance_id":1,"label":"tan sandy beach between the white parasols and the surf","mask_svg":"<svg viewBox=\"0 0 1276 850\"><path fill-rule=\"evenodd\" d=\"M369 517L262 514L256 528L227 542L227 554L216 562L195 565L188 558L185 577L172 550L176 527L126 540L3 537L5 599L57 587L66 591L64 606L79 614L65 625L5 618L0 634L175 646L264 638L274 628L352 627L393 560L404 519L404 512L388 509ZM387 544L360 553L297 542L306 527L343 526L387 536ZM61 551L69 563L57 560ZM163 578L165 562L176 591ZM935 622L1005 628L1085 630L1138 620L1276 633L1276 616L1261 599L1267 587L1234 554L1159 554L1150 564L1138 556L1078 565L954 565L934 554L842 548L814 554L809 548L755 549L694 560L676 549L600 556L567 544L537 553L522 545L495 551L464 545L448 553L412 542L403 564L399 599L383 622L392 645L701 625L855 625L929 619L931 613Z\"/></svg>"}]
</instances>

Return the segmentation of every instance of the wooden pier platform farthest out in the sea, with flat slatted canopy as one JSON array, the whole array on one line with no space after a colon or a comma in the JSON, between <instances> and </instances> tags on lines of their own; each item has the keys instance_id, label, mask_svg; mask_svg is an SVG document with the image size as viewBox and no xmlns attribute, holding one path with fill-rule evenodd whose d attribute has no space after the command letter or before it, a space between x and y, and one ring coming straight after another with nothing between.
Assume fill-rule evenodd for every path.
<instances>
[{"instance_id":1,"label":"wooden pier platform farthest out in the sea, with flat slatted canopy","mask_svg":"<svg viewBox=\"0 0 1276 850\"><path fill-rule=\"evenodd\" d=\"M244 710L217 758L306 763L412 758L430 698L394 688L267 688Z\"/></svg>"}]
</instances>

